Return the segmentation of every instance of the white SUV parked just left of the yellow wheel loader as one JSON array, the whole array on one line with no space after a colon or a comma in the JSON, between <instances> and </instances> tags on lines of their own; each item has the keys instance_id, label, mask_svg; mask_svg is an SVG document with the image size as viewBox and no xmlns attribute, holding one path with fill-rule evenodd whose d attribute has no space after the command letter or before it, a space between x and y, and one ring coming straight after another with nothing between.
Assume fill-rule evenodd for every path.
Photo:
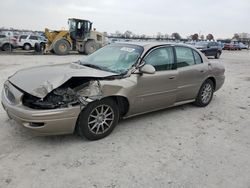
<instances>
[{"instance_id":1,"label":"white SUV parked just left of the yellow wheel loader","mask_svg":"<svg viewBox=\"0 0 250 188\"><path fill-rule=\"evenodd\" d=\"M44 45L47 39L38 35L20 35L17 41L18 46L24 50L33 49L36 43Z\"/></svg>"}]
</instances>

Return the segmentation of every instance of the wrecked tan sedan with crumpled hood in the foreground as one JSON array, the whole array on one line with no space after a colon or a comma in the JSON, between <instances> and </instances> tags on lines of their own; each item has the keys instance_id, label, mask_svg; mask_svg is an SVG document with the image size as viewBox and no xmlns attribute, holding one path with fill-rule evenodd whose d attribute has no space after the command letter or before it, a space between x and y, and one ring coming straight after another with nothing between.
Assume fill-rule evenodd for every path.
<instances>
[{"instance_id":1,"label":"wrecked tan sedan with crumpled hood in the foreground","mask_svg":"<svg viewBox=\"0 0 250 188\"><path fill-rule=\"evenodd\" d=\"M207 106L224 67L184 44L111 44L74 63L16 72L4 83L10 118L40 134L109 135L121 118L184 103Z\"/></svg>"}]
</instances>

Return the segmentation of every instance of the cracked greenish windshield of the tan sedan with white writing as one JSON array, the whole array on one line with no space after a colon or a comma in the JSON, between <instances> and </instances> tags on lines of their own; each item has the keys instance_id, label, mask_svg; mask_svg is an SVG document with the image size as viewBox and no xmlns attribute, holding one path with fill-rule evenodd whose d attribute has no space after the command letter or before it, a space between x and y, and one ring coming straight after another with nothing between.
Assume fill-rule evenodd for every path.
<instances>
[{"instance_id":1,"label":"cracked greenish windshield of the tan sedan with white writing","mask_svg":"<svg viewBox=\"0 0 250 188\"><path fill-rule=\"evenodd\" d=\"M136 63L142 52L143 48L136 45L108 45L87 56L80 63L95 69L122 74Z\"/></svg>"}]
</instances>

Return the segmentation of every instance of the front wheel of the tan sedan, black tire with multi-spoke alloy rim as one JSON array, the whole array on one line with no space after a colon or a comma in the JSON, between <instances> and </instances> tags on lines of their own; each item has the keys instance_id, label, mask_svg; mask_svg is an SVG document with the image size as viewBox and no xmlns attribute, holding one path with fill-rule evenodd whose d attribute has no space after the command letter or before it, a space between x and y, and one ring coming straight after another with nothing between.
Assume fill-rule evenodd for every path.
<instances>
[{"instance_id":1,"label":"front wheel of the tan sedan, black tire with multi-spoke alloy rim","mask_svg":"<svg viewBox=\"0 0 250 188\"><path fill-rule=\"evenodd\" d=\"M114 100L105 98L94 101L89 103L80 113L76 132L88 140L102 139L113 131L118 120L119 108Z\"/></svg>"}]
</instances>

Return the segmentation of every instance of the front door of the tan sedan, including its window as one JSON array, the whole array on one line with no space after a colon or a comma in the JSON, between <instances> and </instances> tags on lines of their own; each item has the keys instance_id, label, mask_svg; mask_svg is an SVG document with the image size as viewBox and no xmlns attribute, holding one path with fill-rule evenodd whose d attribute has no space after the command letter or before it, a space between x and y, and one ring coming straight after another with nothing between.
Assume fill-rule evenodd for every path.
<instances>
[{"instance_id":1,"label":"front door of the tan sedan, including its window","mask_svg":"<svg viewBox=\"0 0 250 188\"><path fill-rule=\"evenodd\" d=\"M155 67L155 74L138 76L133 113L166 108L175 103L178 72L173 47L158 47L144 58Z\"/></svg>"}]
</instances>

